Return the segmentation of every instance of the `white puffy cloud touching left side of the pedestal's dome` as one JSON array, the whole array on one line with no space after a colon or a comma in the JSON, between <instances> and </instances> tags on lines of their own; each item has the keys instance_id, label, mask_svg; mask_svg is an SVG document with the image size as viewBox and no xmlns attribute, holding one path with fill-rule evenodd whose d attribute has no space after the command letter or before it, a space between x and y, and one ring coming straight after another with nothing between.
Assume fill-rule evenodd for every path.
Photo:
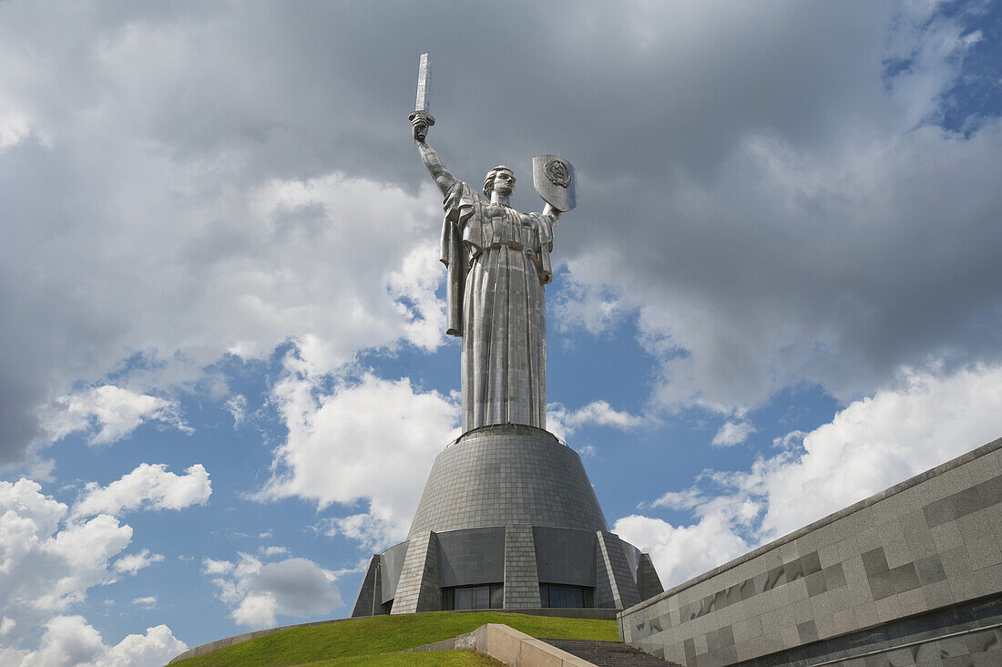
<instances>
[{"instance_id":1,"label":"white puffy cloud touching left side of the pedestal's dome","mask_svg":"<svg viewBox=\"0 0 1002 667\"><path fill-rule=\"evenodd\" d=\"M406 378L372 374L321 393L301 361L291 356L287 363L273 395L289 436L262 497L295 495L320 508L366 501L367 513L331 528L367 548L402 540L432 460L459 434L458 406L436 391L416 391Z\"/></svg>"}]
</instances>

